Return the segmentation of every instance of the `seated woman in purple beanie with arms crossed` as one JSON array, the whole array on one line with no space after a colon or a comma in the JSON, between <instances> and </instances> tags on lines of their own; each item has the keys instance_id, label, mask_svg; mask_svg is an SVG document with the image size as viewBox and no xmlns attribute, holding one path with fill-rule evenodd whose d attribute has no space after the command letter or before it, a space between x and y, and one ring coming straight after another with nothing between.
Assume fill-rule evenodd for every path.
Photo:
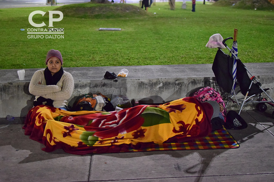
<instances>
[{"instance_id":1,"label":"seated woman in purple beanie with arms crossed","mask_svg":"<svg viewBox=\"0 0 274 182\"><path fill-rule=\"evenodd\" d=\"M66 100L72 95L74 80L62 68L61 52L48 51L46 65L46 69L36 71L30 80L29 92L35 96L33 106L44 104L67 110Z\"/></svg>"}]
</instances>

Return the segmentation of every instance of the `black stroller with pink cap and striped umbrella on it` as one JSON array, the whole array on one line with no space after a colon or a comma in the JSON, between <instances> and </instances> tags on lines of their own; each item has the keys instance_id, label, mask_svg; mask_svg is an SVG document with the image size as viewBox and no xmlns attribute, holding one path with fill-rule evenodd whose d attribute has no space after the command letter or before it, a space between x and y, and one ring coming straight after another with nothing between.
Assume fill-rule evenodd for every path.
<instances>
[{"instance_id":1,"label":"black stroller with pink cap and striped umbrella on it","mask_svg":"<svg viewBox=\"0 0 274 182\"><path fill-rule=\"evenodd\" d=\"M232 49L225 43L228 39L234 39ZM229 101L232 101L240 106L238 113L240 114L244 105L248 103L257 103L257 109L264 112L267 109L266 103L274 106L274 101L266 93L269 89L263 89L261 87L262 84L258 82L256 77L251 74L237 57L236 39L237 29L234 29L234 38L229 37L223 40L220 34L214 34L210 37L209 42L206 45L210 48L218 48L212 66L216 82L223 91L227 93L226 107ZM231 56L223 52L221 48L228 49ZM242 95L238 93L242 93ZM268 97L268 100L262 97L262 93ZM274 117L274 111L272 112L272 116Z\"/></svg>"}]
</instances>

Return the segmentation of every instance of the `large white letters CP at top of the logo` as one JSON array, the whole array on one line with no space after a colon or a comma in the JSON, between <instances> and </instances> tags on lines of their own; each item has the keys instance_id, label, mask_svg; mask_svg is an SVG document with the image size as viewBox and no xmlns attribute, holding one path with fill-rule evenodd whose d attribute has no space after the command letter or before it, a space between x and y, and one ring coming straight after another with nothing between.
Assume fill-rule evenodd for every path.
<instances>
[{"instance_id":1,"label":"large white letters CP at top of the logo","mask_svg":"<svg viewBox=\"0 0 274 182\"><path fill-rule=\"evenodd\" d=\"M60 12L60 11L48 11L49 12L49 27L53 27L53 22L60 22L62 19L63 19L63 13ZM42 16L44 16L44 14L46 14L46 12L43 12L43 11L34 11L34 12L31 12L30 15L29 15L29 22L30 22L30 25L34 26L34 27L42 27L42 26L45 26L46 24L43 22L43 23L40 23L40 24L37 24L37 23L34 23L32 21L32 17L33 15L36 15L36 14L41 14ZM52 15L53 14L59 14L60 17L59 18L52 18Z\"/></svg>"}]
</instances>

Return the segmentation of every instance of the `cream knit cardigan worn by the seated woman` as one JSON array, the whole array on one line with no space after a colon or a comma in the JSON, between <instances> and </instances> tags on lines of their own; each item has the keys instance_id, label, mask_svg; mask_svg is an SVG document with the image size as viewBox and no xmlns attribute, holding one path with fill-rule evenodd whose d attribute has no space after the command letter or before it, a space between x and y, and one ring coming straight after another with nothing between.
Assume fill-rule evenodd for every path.
<instances>
[{"instance_id":1,"label":"cream knit cardigan worn by the seated woman","mask_svg":"<svg viewBox=\"0 0 274 182\"><path fill-rule=\"evenodd\" d=\"M38 84L41 82L41 84ZM53 100L54 107L66 106L67 99L72 95L74 80L69 72L64 71L61 79L56 85L46 85L44 69L36 71L29 86L29 92L35 96L35 100L42 96Z\"/></svg>"}]
</instances>

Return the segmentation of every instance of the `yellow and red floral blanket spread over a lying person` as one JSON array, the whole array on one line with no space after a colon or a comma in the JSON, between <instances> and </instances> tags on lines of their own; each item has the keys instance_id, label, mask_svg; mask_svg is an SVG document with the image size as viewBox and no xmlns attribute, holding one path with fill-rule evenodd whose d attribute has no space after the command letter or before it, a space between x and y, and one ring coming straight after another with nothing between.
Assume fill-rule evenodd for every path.
<instances>
[{"instance_id":1,"label":"yellow and red floral blanket spread over a lying person","mask_svg":"<svg viewBox=\"0 0 274 182\"><path fill-rule=\"evenodd\" d=\"M23 129L47 152L61 148L81 155L114 153L207 136L212 114L212 106L193 97L112 112L69 112L40 105L29 111Z\"/></svg>"}]
</instances>

